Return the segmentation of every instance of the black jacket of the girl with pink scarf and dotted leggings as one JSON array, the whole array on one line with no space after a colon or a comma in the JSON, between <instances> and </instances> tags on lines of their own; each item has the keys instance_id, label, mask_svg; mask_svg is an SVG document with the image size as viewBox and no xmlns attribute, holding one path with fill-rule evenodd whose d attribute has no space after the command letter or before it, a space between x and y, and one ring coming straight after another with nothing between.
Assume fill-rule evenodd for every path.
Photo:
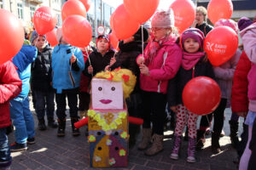
<instances>
[{"instance_id":1,"label":"black jacket of the girl with pink scarf and dotted leggings","mask_svg":"<svg viewBox=\"0 0 256 170\"><path fill-rule=\"evenodd\" d=\"M168 97L168 105L174 106L178 104L183 104L183 88L192 79L192 73L193 69L190 69L189 71L186 71L181 66L179 71L177 72L176 77L172 78L168 82L168 91L167 91L167 97ZM210 77L214 79L214 72L212 65L210 62L204 61L204 59L201 59L196 65L195 65L195 77Z\"/></svg>"}]
</instances>

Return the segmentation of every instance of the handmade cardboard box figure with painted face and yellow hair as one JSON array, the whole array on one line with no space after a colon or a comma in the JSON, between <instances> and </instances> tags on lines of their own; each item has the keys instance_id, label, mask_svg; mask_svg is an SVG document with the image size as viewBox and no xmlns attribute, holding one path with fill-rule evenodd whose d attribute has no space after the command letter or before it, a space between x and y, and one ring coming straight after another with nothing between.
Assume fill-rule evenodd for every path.
<instances>
[{"instance_id":1,"label":"handmade cardboard box figure with painted face and yellow hair","mask_svg":"<svg viewBox=\"0 0 256 170\"><path fill-rule=\"evenodd\" d=\"M128 113L125 98L129 97L136 77L126 69L96 74L91 81L91 103L88 117L75 123L79 128L88 123L90 167L126 167L128 165ZM142 124L129 117L131 123Z\"/></svg>"}]
</instances>

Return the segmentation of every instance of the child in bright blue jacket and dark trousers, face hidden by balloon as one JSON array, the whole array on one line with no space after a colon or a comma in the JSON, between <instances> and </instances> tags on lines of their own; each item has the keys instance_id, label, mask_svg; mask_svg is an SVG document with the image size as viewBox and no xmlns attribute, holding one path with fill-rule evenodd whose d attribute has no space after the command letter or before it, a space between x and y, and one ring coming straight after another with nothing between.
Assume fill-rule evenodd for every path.
<instances>
[{"instance_id":1,"label":"child in bright blue jacket and dark trousers, face hidden by balloon","mask_svg":"<svg viewBox=\"0 0 256 170\"><path fill-rule=\"evenodd\" d=\"M65 136L66 97L70 108L73 136L78 136L79 129L74 127L74 123L79 121L78 94L81 72L84 70L84 57L79 48L71 46L66 41L61 28L57 29L56 36L59 44L53 50L51 66L59 123L57 136Z\"/></svg>"}]
</instances>

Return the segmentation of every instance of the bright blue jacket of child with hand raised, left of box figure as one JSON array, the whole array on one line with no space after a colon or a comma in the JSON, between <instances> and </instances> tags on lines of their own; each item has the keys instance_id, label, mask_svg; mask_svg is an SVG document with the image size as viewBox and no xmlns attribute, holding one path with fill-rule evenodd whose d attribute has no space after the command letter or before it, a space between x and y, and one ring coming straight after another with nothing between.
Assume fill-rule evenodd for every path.
<instances>
[{"instance_id":1,"label":"bright blue jacket of child with hand raised, left of box figure","mask_svg":"<svg viewBox=\"0 0 256 170\"><path fill-rule=\"evenodd\" d=\"M70 65L72 54L77 60ZM53 88L57 94L63 89L79 88L81 72L84 71L84 57L79 48L62 44L55 46L51 66Z\"/></svg>"}]
</instances>

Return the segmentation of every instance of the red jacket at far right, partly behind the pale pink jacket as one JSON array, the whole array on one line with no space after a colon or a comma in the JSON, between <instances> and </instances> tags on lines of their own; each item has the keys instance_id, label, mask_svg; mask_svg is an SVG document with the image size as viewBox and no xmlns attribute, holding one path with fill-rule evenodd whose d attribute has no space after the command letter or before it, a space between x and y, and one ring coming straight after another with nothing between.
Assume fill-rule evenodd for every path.
<instances>
[{"instance_id":1,"label":"red jacket at far right, partly behind the pale pink jacket","mask_svg":"<svg viewBox=\"0 0 256 170\"><path fill-rule=\"evenodd\" d=\"M248 111L248 81L247 74L251 69L251 61L247 58L245 51L236 65L236 71L233 77L233 86L231 91L231 109L233 112Z\"/></svg>"}]
</instances>

